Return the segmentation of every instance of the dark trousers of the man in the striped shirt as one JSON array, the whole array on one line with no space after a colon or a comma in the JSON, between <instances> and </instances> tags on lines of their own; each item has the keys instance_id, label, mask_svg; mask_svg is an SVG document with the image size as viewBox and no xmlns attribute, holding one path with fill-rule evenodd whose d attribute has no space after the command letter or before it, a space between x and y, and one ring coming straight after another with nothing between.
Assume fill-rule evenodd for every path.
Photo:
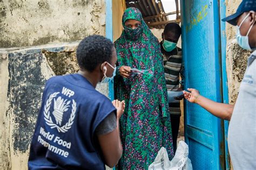
<instances>
[{"instance_id":1,"label":"dark trousers of the man in the striped shirt","mask_svg":"<svg viewBox=\"0 0 256 170\"><path fill-rule=\"evenodd\" d=\"M171 115L173 151L177 150L177 137L179 133L180 115Z\"/></svg>"}]
</instances>

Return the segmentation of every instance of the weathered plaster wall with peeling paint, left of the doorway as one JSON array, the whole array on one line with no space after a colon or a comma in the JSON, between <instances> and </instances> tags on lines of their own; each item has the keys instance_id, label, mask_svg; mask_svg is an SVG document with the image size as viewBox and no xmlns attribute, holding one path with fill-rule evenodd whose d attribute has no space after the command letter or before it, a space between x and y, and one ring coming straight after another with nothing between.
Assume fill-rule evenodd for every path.
<instances>
[{"instance_id":1,"label":"weathered plaster wall with peeling paint, left of the doorway","mask_svg":"<svg viewBox=\"0 0 256 170\"><path fill-rule=\"evenodd\" d=\"M105 1L2 0L0 10L0 169L27 169L45 81L77 72L79 41L105 35Z\"/></svg>"}]
</instances>

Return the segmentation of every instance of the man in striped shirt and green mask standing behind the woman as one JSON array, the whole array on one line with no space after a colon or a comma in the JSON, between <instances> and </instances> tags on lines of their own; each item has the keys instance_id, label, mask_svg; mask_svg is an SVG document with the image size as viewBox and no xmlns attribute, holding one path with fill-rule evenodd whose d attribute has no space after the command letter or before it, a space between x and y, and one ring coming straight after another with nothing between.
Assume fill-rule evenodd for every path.
<instances>
[{"instance_id":1,"label":"man in striped shirt and green mask standing behind the woman","mask_svg":"<svg viewBox=\"0 0 256 170\"><path fill-rule=\"evenodd\" d=\"M177 42L181 34L181 28L177 23L169 23L162 33L163 41L160 42L161 52L164 60L165 80L168 92L169 111L171 114L173 150L177 149L177 137L180 122L180 100L183 98L182 89L179 84L181 73L182 56L181 48ZM181 96L180 96L181 95ZM175 96L180 96L174 99Z\"/></svg>"}]
</instances>

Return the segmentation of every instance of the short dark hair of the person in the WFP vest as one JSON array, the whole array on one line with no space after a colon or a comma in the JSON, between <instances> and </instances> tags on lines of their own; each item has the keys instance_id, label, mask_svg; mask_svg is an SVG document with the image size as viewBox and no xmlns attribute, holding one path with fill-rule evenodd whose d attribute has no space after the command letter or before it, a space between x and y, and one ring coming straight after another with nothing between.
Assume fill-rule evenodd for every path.
<instances>
[{"instance_id":1,"label":"short dark hair of the person in the WFP vest","mask_svg":"<svg viewBox=\"0 0 256 170\"><path fill-rule=\"evenodd\" d=\"M77 62L80 68L93 72L104 61L111 62L114 44L103 36L84 38L77 47Z\"/></svg>"}]
</instances>

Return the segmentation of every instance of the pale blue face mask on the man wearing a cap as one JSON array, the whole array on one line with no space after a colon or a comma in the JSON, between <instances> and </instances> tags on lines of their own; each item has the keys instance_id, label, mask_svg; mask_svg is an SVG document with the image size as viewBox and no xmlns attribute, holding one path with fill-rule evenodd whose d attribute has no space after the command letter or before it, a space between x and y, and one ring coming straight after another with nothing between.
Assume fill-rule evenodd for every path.
<instances>
[{"instance_id":1,"label":"pale blue face mask on the man wearing a cap","mask_svg":"<svg viewBox=\"0 0 256 170\"><path fill-rule=\"evenodd\" d=\"M240 47L244 48L244 49L249 49L251 50L251 47L249 45L249 38L248 38L248 34L250 33L254 23L252 24L252 26L250 27L250 29L248 30L246 36L241 36L240 33L240 27L242 25L242 23L244 23L245 19L250 15L250 13L248 13L248 15L242 20L240 26L237 25L237 43ZM255 21L254 21L255 22Z\"/></svg>"}]
</instances>

